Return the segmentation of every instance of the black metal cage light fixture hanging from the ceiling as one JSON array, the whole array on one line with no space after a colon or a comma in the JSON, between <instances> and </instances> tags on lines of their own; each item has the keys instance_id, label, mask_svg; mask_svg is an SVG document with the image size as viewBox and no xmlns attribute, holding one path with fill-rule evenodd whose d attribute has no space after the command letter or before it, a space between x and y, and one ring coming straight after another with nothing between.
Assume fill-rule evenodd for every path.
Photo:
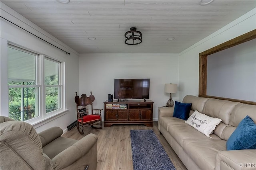
<instances>
[{"instance_id":1,"label":"black metal cage light fixture hanging from the ceiling","mask_svg":"<svg viewBox=\"0 0 256 170\"><path fill-rule=\"evenodd\" d=\"M124 43L128 45L137 45L142 42L142 34L140 31L136 31L136 27L131 27L130 31L124 34Z\"/></svg>"}]
</instances>

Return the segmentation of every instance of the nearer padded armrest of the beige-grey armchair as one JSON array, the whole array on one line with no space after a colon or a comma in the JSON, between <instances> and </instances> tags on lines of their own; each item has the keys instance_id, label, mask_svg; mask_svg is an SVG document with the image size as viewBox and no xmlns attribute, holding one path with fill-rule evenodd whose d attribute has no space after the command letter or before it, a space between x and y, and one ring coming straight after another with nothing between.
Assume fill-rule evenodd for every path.
<instances>
[{"instance_id":1,"label":"nearer padded armrest of the beige-grey armchair","mask_svg":"<svg viewBox=\"0 0 256 170\"><path fill-rule=\"evenodd\" d=\"M92 161L90 160L96 160L95 163L97 164L97 140L97 135L90 133L89 135L86 135L85 137L74 143L74 145L57 154L54 158L52 158L54 170L64 169L67 167L68 169L75 169L75 167L72 168L72 164L75 164L76 161L82 158L92 148L95 148L95 146L96 153L94 153L94 156L90 154L91 156L88 156L86 159L83 160L83 162L88 161L92 163ZM76 164L76 166L79 165ZM85 166L85 164L80 165L80 168L82 168L83 166Z\"/></svg>"}]
</instances>

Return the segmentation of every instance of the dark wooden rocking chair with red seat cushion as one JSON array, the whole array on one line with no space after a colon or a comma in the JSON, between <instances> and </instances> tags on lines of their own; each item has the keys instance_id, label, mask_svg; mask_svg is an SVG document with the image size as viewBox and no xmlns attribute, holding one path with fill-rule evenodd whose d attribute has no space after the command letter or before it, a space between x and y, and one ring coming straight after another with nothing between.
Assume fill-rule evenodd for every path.
<instances>
[{"instance_id":1,"label":"dark wooden rocking chair with red seat cushion","mask_svg":"<svg viewBox=\"0 0 256 170\"><path fill-rule=\"evenodd\" d=\"M89 97L86 94L82 94L79 98L75 96L76 112L77 112L77 124L76 127L79 133L84 134L84 127L90 126L95 129L102 129L101 111L103 109L93 109L92 102L95 98L90 92Z\"/></svg>"}]
</instances>

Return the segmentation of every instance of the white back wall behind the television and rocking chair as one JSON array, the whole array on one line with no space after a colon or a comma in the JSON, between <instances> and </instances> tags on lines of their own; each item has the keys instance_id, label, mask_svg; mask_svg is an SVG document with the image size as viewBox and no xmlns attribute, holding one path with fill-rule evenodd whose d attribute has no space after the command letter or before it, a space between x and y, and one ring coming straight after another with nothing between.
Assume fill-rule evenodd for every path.
<instances>
[{"instance_id":1,"label":"white back wall behind the television and rocking chair","mask_svg":"<svg viewBox=\"0 0 256 170\"><path fill-rule=\"evenodd\" d=\"M153 120L158 120L158 107L164 106L170 96L164 92L164 84L178 83L178 55L80 54L79 95L89 96L92 91L95 109L104 109L108 94L114 94L115 78L150 78ZM178 100L178 93L172 94L172 99Z\"/></svg>"}]
</instances>

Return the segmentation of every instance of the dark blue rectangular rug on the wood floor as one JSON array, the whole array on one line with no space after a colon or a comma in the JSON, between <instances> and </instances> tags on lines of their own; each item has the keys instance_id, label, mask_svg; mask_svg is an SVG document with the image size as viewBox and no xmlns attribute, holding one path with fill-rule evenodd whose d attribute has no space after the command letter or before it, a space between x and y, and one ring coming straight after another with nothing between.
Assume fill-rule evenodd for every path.
<instances>
[{"instance_id":1,"label":"dark blue rectangular rug on the wood floor","mask_svg":"<svg viewBox=\"0 0 256 170\"><path fill-rule=\"evenodd\" d=\"M134 170L176 170L153 130L130 130Z\"/></svg>"}]
</instances>

